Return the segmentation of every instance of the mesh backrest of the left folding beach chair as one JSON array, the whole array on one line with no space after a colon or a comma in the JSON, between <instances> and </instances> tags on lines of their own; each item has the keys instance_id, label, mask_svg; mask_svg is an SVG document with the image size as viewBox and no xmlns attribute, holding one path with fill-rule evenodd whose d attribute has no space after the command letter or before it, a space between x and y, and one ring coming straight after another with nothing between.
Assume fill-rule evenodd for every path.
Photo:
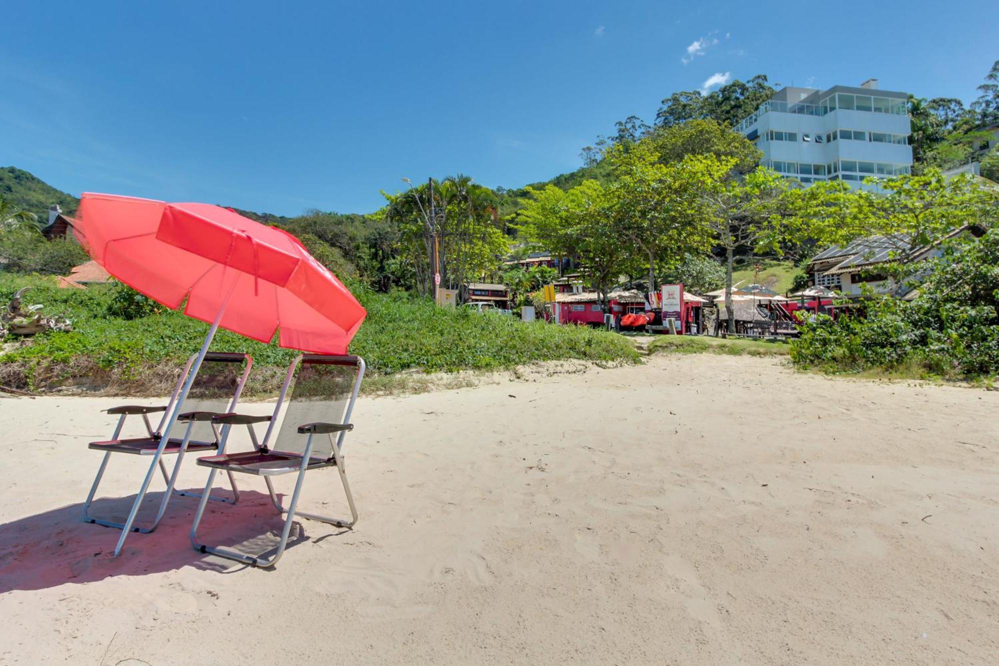
<instances>
[{"instance_id":1,"label":"mesh backrest of the left folding beach chair","mask_svg":"<svg viewBox=\"0 0 999 666\"><path fill-rule=\"evenodd\" d=\"M191 371L192 361L188 362L187 372ZM181 406L180 413L219 412L225 414L236 411L236 404L239 402L243 385L246 383L252 365L253 360L249 354L209 352L191 384L191 390ZM167 414L170 413L168 410ZM170 429L170 437L183 438L187 427L187 423L174 423ZM208 421L195 422L191 430L191 441L216 441L212 424Z\"/></svg>"}]
</instances>

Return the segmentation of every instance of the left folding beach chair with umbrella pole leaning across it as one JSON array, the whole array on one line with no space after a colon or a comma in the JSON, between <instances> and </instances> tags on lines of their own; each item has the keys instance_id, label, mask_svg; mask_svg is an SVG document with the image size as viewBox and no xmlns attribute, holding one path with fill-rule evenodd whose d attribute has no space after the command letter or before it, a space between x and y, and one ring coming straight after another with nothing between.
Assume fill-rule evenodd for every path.
<instances>
[{"instance_id":1,"label":"left folding beach chair with umbrella pole leaning across it","mask_svg":"<svg viewBox=\"0 0 999 666\"><path fill-rule=\"evenodd\" d=\"M177 482L177 474L180 471L181 462L184 460L184 454L187 451L203 452L219 450L221 438L219 437L218 428L211 423L211 417L220 411L232 412L236 409L240 393L243 391L247 376L250 374L250 368L253 366L253 359L249 354L209 352L205 356L197 376L191 383L191 389L184 399L177 421L168 424L167 421L173 413L185 381L189 378L195 358L196 355L188 359L187 365L181 373L177 386L174 389L173 396L166 406L146 407L141 405L123 405L112 407L107 410L108 414L120 415L121 418L118 419L118 424L115 426L115 432L111 436L111 439L102 442L91 442L89 445L89 448L95 451L103 451L104 459L97 470L97 476L94 478L94 484L87 495L87 501L84 502L83 519L88 523L96 523L105 527L114 527L122 530L121 538L115 547L115 555L121 552L122 545L125 543L125 537L130 531L149 533L156 529L163 519L163 514L166 513L167 504L170 502L172 495L201 497L198 493L174 490L174 484ZM160 419L159 425L154 430L150 424L149 415L159 412L163 412L163 416ZM133 415L142 416L147 435L145 437L121 439L120 435L125 425L125 420ZM164 435L164 432L168 434ZM142 482L128 519L124 523L96 518L90 515L90 504L97 493L97 487L101 484L101 478L104 476L104 470L108 465L108 460L111 458L112 453L128 453L131 455L152 457L149 471ZM163 456L170 454L177 454L177 462L174 464L173 473L168 475L167 468L163 464ZM148 527L133 527L139 506L146 496L149 483L157 467L159 467L160 472L163 474L163 480L167 484L167 490L163 494L163 501L160 502L160 509L151 525ZM232 474L229 475L229 483L233 489L232 499L209 497L207 494L208 491L206 491L206 499L235 504L239 500L239 490L236 487L236 479Z\"/></svg>"}]
</instances>

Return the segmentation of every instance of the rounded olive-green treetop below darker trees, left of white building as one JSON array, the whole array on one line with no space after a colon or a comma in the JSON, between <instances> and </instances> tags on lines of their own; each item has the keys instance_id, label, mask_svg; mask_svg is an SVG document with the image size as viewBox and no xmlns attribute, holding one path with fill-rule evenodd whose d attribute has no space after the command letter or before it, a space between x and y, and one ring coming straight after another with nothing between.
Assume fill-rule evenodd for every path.
<instances>
[{"instance_id":1,"label":"rounded olive-green treetop below darker trees, left of white building","mask_svg":"<svg viewBox=\"0 0 999 666\"><path fill-rule=\"evenodd\" d=\"M645 142L662 164L680 162L688 155L714 155L733 158L735 170L747 173L756 168L763 156L744 136L714 120L692 120L657 128Z\"/></svg>"}]
</instances>

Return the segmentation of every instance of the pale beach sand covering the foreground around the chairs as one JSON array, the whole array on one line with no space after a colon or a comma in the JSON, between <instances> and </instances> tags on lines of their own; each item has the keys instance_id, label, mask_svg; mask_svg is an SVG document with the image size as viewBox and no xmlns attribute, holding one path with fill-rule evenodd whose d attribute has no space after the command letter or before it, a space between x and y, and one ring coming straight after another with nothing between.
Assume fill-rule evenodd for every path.
<instances>
[{"instance_id":1,"label":"pale beach sand covering the foreground around the chairs","mask_svg":"<svg viewBox=\"0 0 999 666\"><path fill-rule=\"evenodd\" d=\"M681 356L362 399L358 526L302 521L273 571L192 550L186 498L109 557L79 512L122 402L0 399L0 663L999 661L999 393ZM206 537L273 541L241 480Z\"/></svg>"}]
</instances>

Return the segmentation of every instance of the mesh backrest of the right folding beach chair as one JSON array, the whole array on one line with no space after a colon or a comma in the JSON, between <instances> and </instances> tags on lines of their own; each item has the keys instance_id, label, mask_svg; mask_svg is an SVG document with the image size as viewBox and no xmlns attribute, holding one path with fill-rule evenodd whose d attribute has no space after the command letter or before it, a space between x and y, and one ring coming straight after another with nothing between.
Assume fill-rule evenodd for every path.
<instances>
[{"instance_id":1,"label":"mesh backrest of the right folding beach chair","mask_svg":"<svg viewBox=\"0 0 999 666\"><path fill-rule=\"evenodd\" d=\"M305 452L308 436L299 433L299 426L307 423L350 423L364 368L365 362L359 356L300 356L289 370L289 379L294 386L291 393L287 389L285 391L283 402L287 409L271 448L301 455ZM273 422L271 427L274 427ZM345 435L334 435L338 447L343 444ZM269 437L267 441L272 440ZM332 457L330 437L314 436L310 456Z\"/></svg>"}]
</instances>

